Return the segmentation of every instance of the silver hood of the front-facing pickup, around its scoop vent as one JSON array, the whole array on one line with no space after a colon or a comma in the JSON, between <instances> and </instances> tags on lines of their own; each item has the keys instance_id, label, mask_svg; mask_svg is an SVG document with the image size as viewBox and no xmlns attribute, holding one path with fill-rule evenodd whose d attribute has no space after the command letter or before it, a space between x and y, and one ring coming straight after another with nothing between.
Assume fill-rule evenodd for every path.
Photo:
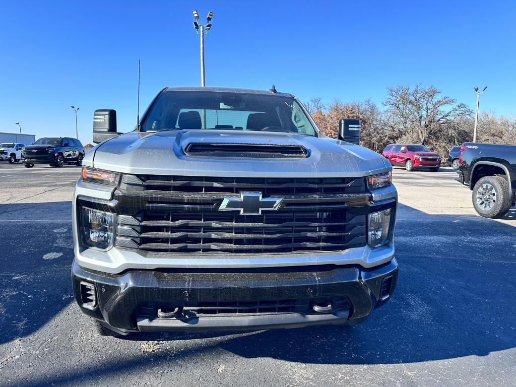
<instances>
[{"instance_id":1,"label":"silver hood of the front-facing pickup, around its scoop vent","mask_svg":"<svg viewBox=\"0 0 516 387\"><path fill-rule=\"evenodd\" d=\"M305 157L214 157L185 154L189 144L300 146ZM132 174L234 177L366 176L391 170L372 150L329 137L244 131L130 132L88 152L83 165Z\"/></svg>"}]
</instances>

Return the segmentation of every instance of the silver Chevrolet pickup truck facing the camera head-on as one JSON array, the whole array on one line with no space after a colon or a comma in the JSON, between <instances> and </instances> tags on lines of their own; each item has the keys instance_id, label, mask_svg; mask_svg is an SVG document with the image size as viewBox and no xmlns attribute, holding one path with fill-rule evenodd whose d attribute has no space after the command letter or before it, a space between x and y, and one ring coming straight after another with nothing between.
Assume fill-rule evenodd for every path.
<instances>
[{"instance_id":1,"label":"silver Chevrolet pickup truck facing the camera head-on","mask_svg":"<svg viewBox=\"0 0 516 387\"><path fill-rule=\"evenodd\" d=\"M96 110L72 279L99 333L356 324L392 296L392 167L293 95L165 88L133 132Z\"/></svg>"}]
</instances>

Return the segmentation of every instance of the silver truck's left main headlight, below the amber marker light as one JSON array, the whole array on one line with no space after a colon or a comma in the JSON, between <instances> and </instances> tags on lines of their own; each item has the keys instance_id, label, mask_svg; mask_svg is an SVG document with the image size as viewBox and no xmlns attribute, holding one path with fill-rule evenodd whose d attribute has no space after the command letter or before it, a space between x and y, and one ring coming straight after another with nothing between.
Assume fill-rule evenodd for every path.
<instances>
[{"instance_id":1,"label":"silver truck's left main headlight, below the amber marker light","mask_svg":"<svg viewBox=\"0 0 516 387\"><path fill-rule=\"evenodd\" d=\"M80 226L83 243L88 247L107 250L113 242L115 214L96 209L80 208Z\"/></svg>"}]
</instances>

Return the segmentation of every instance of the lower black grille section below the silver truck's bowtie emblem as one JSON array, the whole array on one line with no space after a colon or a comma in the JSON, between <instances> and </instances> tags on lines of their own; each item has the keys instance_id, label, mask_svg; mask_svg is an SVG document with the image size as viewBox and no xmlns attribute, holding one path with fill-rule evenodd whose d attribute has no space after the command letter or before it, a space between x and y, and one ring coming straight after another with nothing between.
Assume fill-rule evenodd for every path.
<instances>
[{"instance_id":1,"label":"lower black grille section below the silver truck's bowtie emblem","mask_svg":"<svg viewBox=\"0 0 516 387\"><path fill-rule=\"evenodd\" d=\"M144 211L119 216L117 245L166 253L336 251L364 245L365 215L348 211L237 215Z\"/></svg>"}]
</instances>

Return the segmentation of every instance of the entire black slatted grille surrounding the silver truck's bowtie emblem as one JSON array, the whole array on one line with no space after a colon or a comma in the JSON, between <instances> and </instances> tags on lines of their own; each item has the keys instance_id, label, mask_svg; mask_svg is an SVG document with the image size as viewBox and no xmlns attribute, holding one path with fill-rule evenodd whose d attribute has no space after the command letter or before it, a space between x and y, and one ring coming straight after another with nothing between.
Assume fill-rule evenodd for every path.
<instances>
[{"instance_id":1,"label":"entire black slatted grille surrounding the silver truck's bowtie emblem","mask_svg":"<svg viewBox=\"0 0 516 387\"><path fill-rule=\"evenodd\" d=\"M280 197L277 211L219 211L241 191ZM363 178L246 179L124 175L115 244L163 254L341 251L366 244ZM362 207L362 209L360 208Z\"/></svg>"}]
</instances>

